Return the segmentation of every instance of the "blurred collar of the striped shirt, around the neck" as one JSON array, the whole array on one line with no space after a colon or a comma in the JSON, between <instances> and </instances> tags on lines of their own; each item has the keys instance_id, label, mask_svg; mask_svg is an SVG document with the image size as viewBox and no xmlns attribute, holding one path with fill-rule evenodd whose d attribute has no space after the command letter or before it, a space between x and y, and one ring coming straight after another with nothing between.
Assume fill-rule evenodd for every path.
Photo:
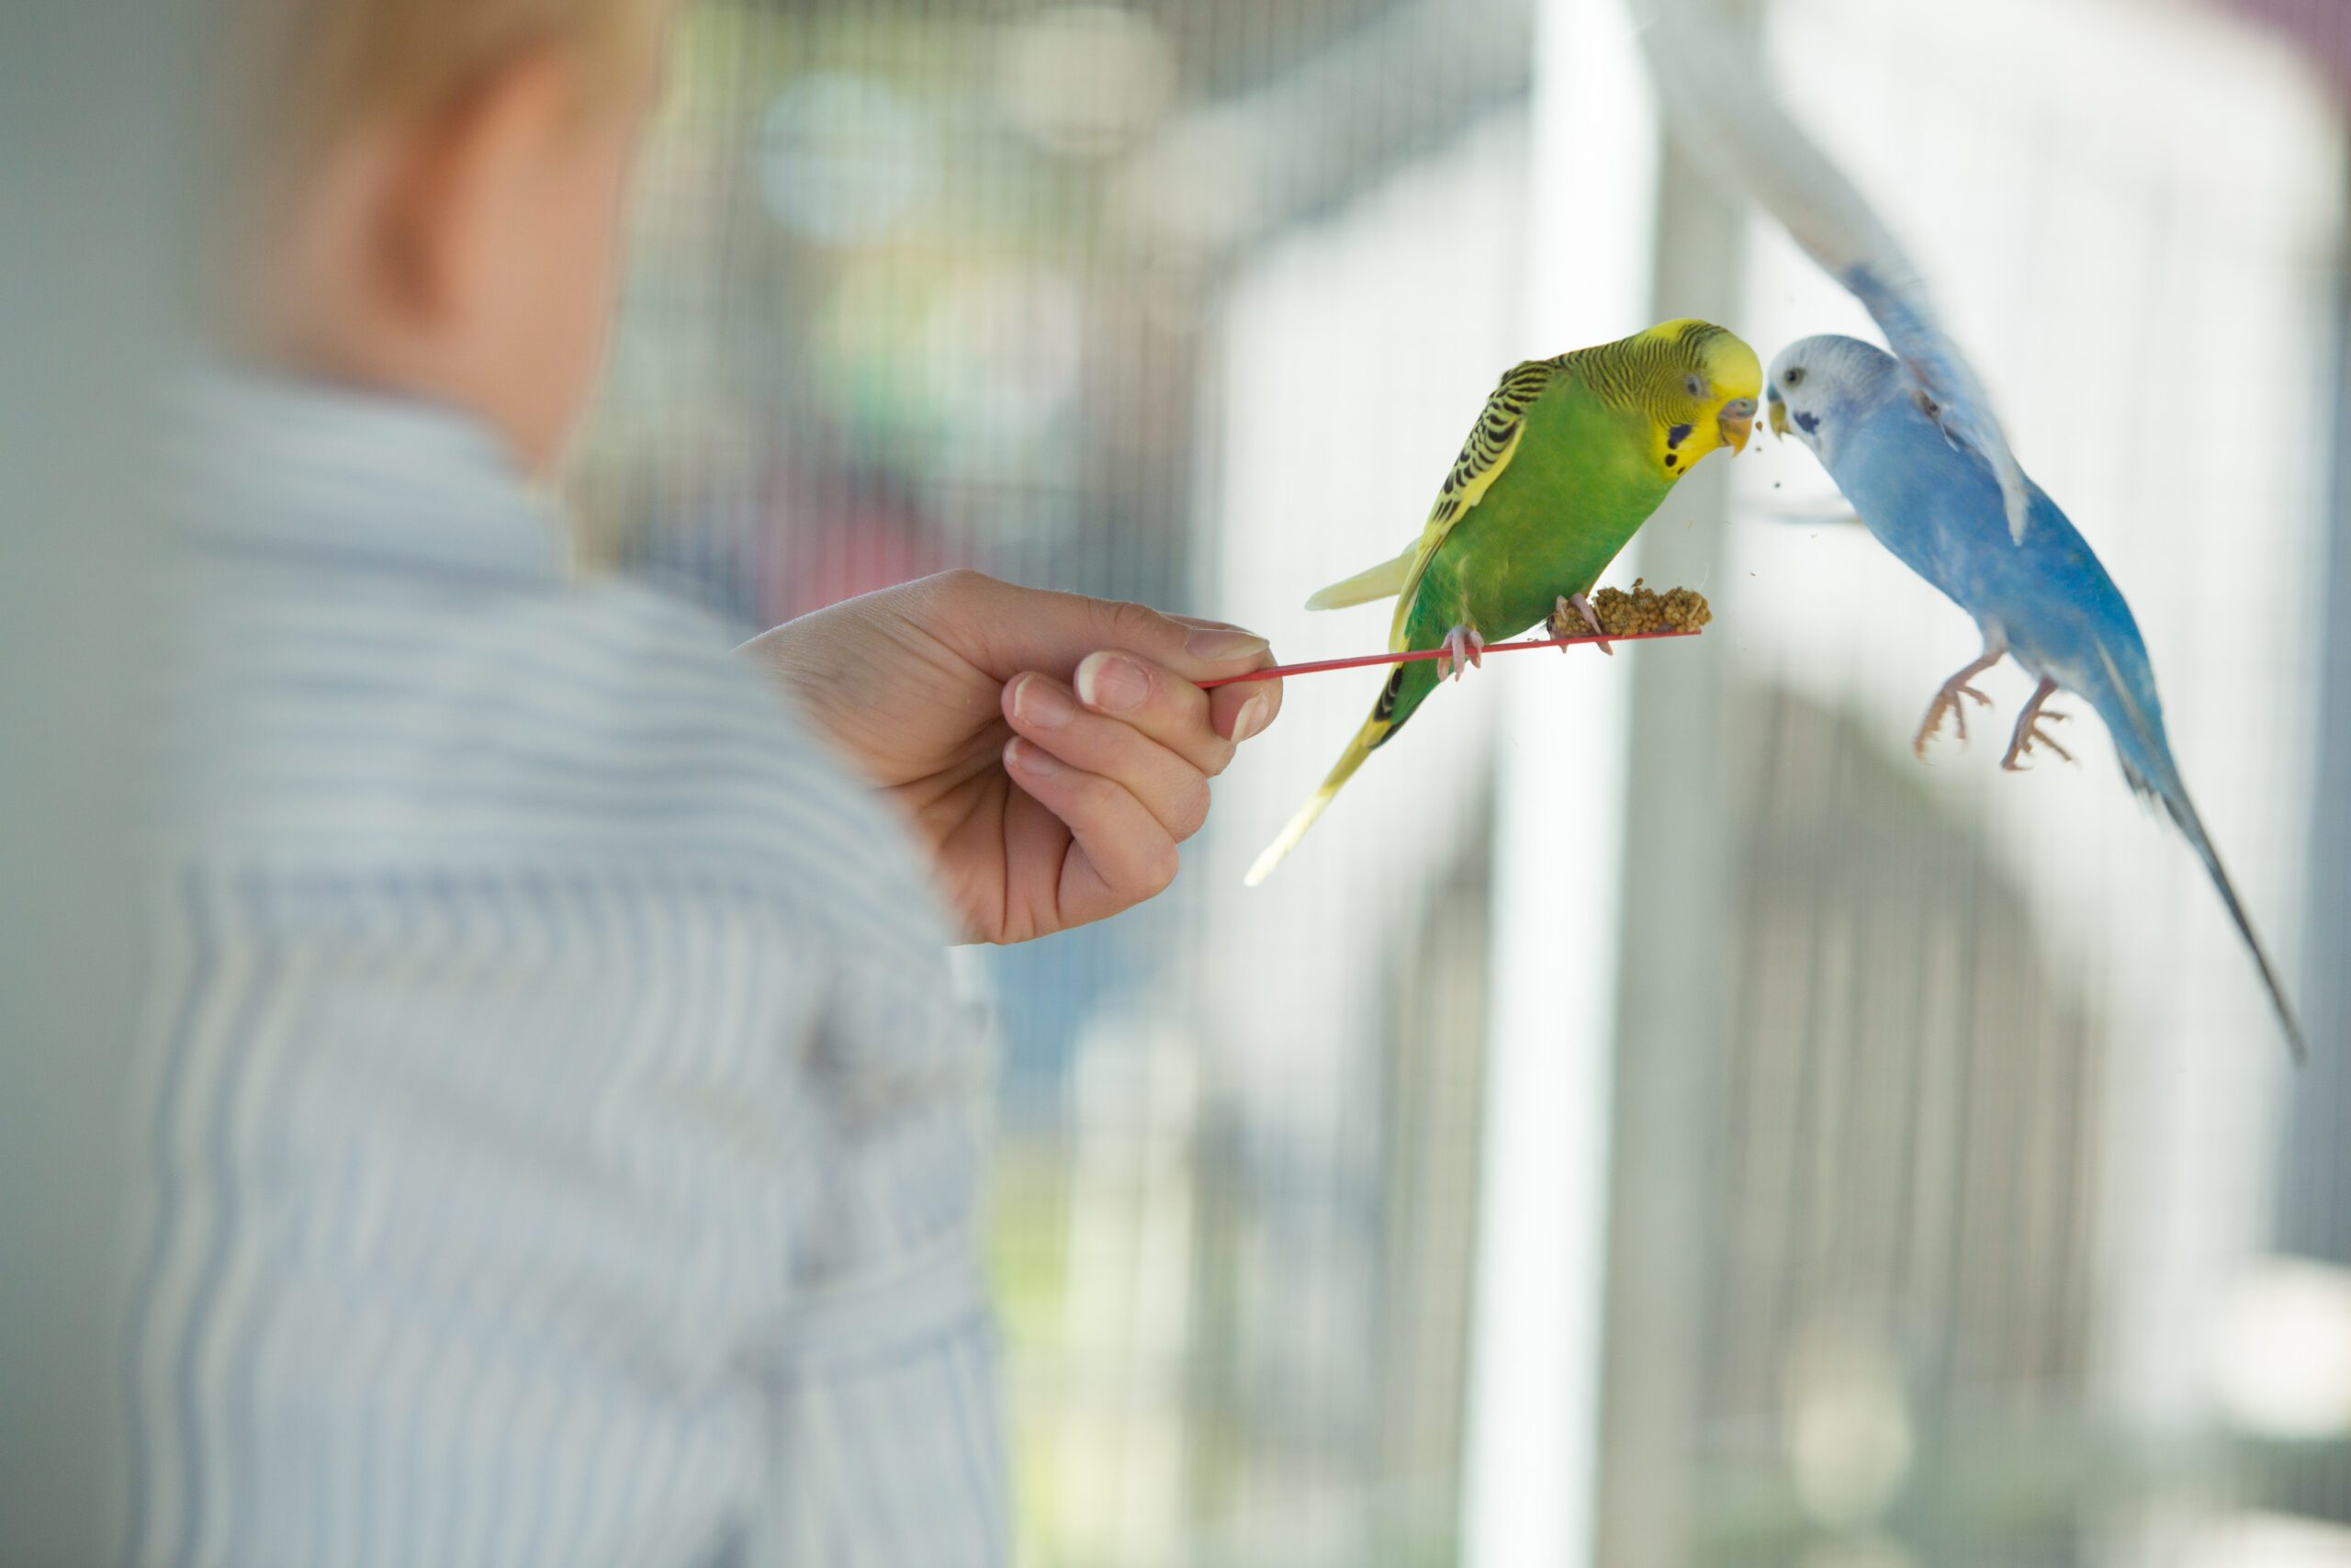
<instances>
[{"instance_id":1,"label":"blurred collar of the striped shirt, around the neck","mask_svg":"<svg viewBox=\"0 0 2351 1568\"><path fill-rule=\"evenodd\" d=\"M564 524L503 442L458 409L209 369L172 423L197 541L355 567L555 581Z\"/></svg>"}]
</instances>

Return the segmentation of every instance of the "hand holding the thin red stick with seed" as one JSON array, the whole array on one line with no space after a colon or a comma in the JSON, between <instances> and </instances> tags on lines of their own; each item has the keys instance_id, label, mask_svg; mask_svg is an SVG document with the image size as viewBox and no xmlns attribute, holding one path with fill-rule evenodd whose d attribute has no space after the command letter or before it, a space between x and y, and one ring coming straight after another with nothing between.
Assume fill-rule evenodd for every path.
<instances>
[{"instance_id":1,"label":"hand holding the thin red stick with seed","mask_svg":"<svg viewBox=\"0 0 2351 1568\"><path fill-rule=\"evenodd\" d=\"M915 820L976 940L1105 919L1176 877L1208 780L1281 712L1262 637L978 571L870 592L745 644Z\"/></svg>"}]
</instances>

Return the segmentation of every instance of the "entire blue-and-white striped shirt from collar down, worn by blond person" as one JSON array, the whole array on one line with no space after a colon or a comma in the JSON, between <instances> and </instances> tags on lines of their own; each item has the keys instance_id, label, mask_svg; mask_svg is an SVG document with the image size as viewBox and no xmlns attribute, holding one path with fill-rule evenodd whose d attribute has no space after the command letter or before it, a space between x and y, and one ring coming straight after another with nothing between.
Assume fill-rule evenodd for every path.
<instances>
[{"instance_id":1,"label":"entire blue-and-white striped shirt from collar down, worn by blond person","mask_svg":"<svg viewBox=\"0 0 2351 1568\"><path fill-rule=\"evenodd\" d=\"M477 425L195 402L127 1561L1004 1561L907 832Z\"/></svg>"}]
</instances>

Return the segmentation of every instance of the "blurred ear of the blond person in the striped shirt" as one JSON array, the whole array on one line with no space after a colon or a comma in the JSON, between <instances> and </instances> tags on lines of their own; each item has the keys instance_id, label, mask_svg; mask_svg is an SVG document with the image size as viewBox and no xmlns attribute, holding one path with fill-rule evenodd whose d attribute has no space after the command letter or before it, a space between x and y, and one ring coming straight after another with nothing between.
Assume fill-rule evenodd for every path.
<instances>
[{"instance_id":1,"label":"blurred ear of the blond person in the striped shirt","mask_svg":"<svg viewBox=\"0 0 2351 1568\"><path fill-rule=\"evenodd\" d=\"M433 331L487 308L534 174L578 113L578 89L564 49L534 49L404 139L371 247L395 317Z\"/></svg>"}]
</instances>

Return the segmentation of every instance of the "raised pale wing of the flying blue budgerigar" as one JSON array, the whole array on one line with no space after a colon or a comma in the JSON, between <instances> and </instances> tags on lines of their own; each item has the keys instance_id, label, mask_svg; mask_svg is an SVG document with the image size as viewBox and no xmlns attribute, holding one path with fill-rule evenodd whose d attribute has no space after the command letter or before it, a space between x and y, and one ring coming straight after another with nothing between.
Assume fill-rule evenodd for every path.
<instances>
[{"instance_id":1,"label":"raised pale wing of the flying blue budgerigar","mask_svg":"<svg viewBox=\"0 0 2351 1568\"><path fill-rule=\"evenodd\" d=\"M1944 331L1925 280L1869 200L1780 108L1759 66L1723 42L1697 0L1632 0L1667 118L1730 193L1751 195L1843 284L1886 334L1944 440L1968 447L2001 484L2008 536L2024 543L2031 494L1991 395Z\"/></svg>"}]
</instances>

